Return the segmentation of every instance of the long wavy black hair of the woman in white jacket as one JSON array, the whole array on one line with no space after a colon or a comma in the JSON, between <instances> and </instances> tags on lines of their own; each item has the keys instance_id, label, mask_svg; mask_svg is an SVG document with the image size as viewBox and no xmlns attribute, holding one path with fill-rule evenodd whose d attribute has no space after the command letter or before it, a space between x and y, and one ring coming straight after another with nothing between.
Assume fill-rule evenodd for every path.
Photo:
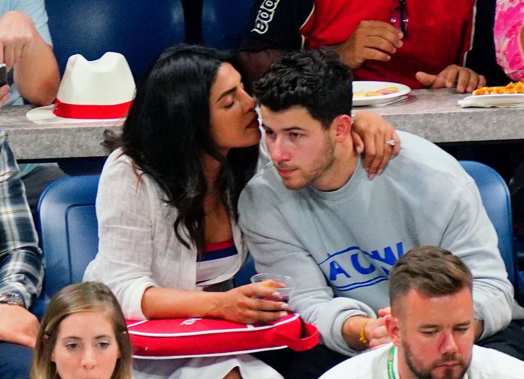
<instances>
[{"instance_id":1,"label":"long wavy black hair of the woman in white jacket","mask_svg":"<svg viewBox=\"0 0 524 379\"><path fill-rule=\"evenodd\" d=\"M224 62L232 62L231 56L212 48L180 44L166 49L138 83L122 135L105 133L106 147L122 147L165 191L163 200L178 210L173 222L178 239L187 248L194 243L199 256L205 248L208 192L204 153L222 163L217 188L235 219L238 197L258 157L258 145L232 148L224 156L212 139L209 98Z\"/></svg>"}]
</instances>

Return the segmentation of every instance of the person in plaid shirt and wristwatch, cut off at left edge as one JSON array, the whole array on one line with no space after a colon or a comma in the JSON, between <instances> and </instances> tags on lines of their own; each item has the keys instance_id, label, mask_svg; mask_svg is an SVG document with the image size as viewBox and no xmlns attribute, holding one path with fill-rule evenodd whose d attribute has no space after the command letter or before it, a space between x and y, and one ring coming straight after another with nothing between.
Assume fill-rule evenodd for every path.
<instances>
[{"instance_id":1,"label":"person in plaid shirt and wristwatch, cut off at left edge","mask_svg":"<svg viewBox=\"0 0 524 379\"><path fill-rule=\"evenodd\" d=\"M42 252L18 165L0 131L0 377L28 377L38 319L27 308L39 295Z\"/></svg>"}]
</instances>

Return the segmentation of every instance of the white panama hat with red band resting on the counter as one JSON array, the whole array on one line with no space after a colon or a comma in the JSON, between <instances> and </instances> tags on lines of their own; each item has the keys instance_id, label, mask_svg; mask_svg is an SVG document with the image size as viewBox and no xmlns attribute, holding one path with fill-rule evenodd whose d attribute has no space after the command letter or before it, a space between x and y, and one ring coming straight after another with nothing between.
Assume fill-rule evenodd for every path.
<instances>
[{"instance_id":1,"label":"white panama hat with red band resting on the counter","mask_svg":"<svg viewBox=\"0 0 524 379\"><path fill-rule=\"evenodd\" d=\"M127 116L135 80L124 55L107 52L95 61L71 55L54 104L31 109L39 124L117 121Z\"/></svg>"}]
</instances>

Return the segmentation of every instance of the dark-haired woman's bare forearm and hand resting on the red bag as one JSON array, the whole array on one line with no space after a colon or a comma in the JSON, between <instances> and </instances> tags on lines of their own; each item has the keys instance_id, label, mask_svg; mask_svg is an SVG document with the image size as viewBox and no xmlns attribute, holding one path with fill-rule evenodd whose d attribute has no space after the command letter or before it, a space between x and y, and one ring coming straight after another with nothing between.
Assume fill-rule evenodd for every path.
<instances>
[{"instance_id":1,"label":"dark-haired woman's bare forearm and hand resting on the red bag","mask_svg":"<svg viewBox=\"0 0 524 379\"><path fill-rule=\"evenodd\" d=\"M227 292L183 291L149 287L142 297L147 318L214 317L243 324L267 323L286 316L288 304L275 289L247 284Z\"/></svg>"}]
</instances>

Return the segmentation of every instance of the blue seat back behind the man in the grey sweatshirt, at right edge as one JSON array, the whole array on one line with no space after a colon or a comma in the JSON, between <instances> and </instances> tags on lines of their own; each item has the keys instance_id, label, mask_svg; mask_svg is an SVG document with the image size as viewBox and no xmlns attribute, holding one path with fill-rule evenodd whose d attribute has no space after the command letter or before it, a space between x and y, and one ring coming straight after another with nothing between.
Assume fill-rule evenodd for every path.
<instances>
[{"instance_id":1,"label":"blue seat back behind the man in the grey sweatshirt, at right edge","mask_svg":"<svg viewBox=\"0 0 524 379\"><path fill-rule=\"evenodd\" d=\"M497 171L483 163L461 160L460 164L477 183L484 208L497 231L498 248L515 287L515 298L523 304L524 272L518 271L508 186Z\"/></svg>"}]
</instances>

